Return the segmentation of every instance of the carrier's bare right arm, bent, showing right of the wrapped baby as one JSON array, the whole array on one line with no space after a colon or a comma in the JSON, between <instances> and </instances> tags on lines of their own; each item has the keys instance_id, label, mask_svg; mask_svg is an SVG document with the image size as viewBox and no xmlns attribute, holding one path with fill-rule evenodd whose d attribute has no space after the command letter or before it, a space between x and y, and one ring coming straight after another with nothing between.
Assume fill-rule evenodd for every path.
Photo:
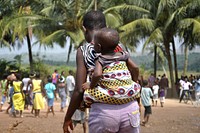
<instances>
[{"instance_id":1,"label":"carrier's bare right arm, bent, showing right of the wrapped baby","mask_svg":"<svg viewBox=\"0 0 200 133\"><path fill-rule=\"evenodd\" d=\"M128 58L126 63L127 63L128 69L131 73L131 77L132 77L133 81L137 82L138 76L139 76L138 66L133 62L133 60L131 60L130 57Z\"/></svg>"}]
</instances>

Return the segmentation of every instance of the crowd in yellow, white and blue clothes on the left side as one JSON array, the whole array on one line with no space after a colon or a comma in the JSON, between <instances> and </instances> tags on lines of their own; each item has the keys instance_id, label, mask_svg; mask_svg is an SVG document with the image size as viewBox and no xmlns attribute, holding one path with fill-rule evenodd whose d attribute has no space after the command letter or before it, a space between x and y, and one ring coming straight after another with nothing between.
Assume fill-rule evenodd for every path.
<instances>
[{"instance_id":1,"label":"crowd in yellow, white and blue clothes on the left side","mask_svg":"<svg viewBox=\"0 0 200 133\"><path fill-rule=\"evenodd\" d=\"M39 117L40 110L45 108L45 101L47 103L48 114L54 112L54 99L60 99L60 112L64 112L67 106L67 97L73 92L75 80L73 71L69 70L69 75L65 77L64 71L59 74L57 70L52 75L48 75L44 82L40 78L40 73L25 73L21 74L18 70L10 70L10 75L4 74L0 82L1 88L1 105L0 112L2 112L3 105L8 101L9 106L6 113L17 117L23 117L23 111L31 107L31 113L35 117ZM9 111L10 110L10 111Z\"/></svg>"}]
</instances>

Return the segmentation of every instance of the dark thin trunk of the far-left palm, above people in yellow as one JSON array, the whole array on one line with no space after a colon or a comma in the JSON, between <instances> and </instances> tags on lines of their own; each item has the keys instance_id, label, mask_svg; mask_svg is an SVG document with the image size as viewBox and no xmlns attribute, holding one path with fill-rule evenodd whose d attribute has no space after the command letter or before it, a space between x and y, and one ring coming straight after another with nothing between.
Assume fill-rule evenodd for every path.
<instances>
[{"instance_id":1,"label":"dark thin trunk of the far-left palm, above people in yellow","mask_svg":"<svg viewBox=\"0 0 200 133\"><path fill-rule=\"evenodd\" d=\"M31 47L31 40L29 33L26 34L27 37L27 44L28 44L28 55L29 55L29 64L30 64L30 71L33 71L33 55L32 55L32 47Z\"/></svg>"}]
</instances>

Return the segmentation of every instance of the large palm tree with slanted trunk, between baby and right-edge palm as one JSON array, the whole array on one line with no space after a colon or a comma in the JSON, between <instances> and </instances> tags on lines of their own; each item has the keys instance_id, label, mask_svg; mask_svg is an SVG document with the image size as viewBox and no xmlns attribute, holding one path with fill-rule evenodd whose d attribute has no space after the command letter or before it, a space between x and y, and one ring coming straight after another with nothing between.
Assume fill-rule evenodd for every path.
<instances>
[{"instance_id":1,"label":"large palm tree with slanted trunk, between baby and right-edge palm","mask_svg":"<svg viewBox=\"0 0 200 133\"><path fill-rule=\"evenodd\" d=\"M145 2L147 3L146 5L150 5L147 7L150 7L149 11L151 14L143 16L143 18L135 19L127 25L120 27L120 30L125 31L122 35L132 35L131 33L137 32L140 34L140 38L149 36L150 38L147 39L147 41L152 42L152 44L154 44L154 42L163 43L164 55L166 55L168 60L171 85L172 88L175 88L170 50L171 42L173 42L174 36L177 35L178 28L176 27L178 27L178 23L183 19L185 13L184 11L193 1L183 2L175 0L150 0ZM140 1L140 3L142 2Z\"/></svg>"}]
</instances>

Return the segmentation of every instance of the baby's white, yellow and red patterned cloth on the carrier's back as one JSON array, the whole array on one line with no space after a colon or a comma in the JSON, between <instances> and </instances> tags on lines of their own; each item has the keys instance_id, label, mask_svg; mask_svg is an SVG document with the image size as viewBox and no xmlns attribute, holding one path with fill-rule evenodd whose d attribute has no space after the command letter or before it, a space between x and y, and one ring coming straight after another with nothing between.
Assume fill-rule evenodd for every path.
<instances>
[{"instance_id":1,"label":"baby's white, yellow and red patterned cloth on the carrier's back","mask_svg":"<svg viewBox=\"0 0 200 133\"><path fill-rule=\"evenodd\" d=\"M126 65L129 58L127 52L121 52L122 56L107 58L98 56L98 61L103 67L103 75L99 84L93 89L84 92L86 105L94 102L106 104L125 104L140 97L140 85L131 78Z\"/></svg>"}]
</instances>

